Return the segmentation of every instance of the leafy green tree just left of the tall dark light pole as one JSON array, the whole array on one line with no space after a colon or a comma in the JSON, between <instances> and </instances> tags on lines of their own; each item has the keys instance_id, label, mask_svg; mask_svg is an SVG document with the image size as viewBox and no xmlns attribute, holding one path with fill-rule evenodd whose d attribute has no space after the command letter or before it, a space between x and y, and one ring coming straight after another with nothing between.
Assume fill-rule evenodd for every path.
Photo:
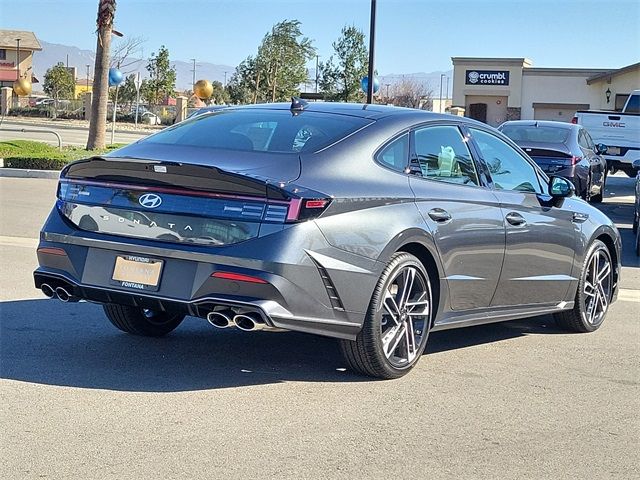
<instances>
[{"instance_id":1,"label":"leafy green tree just left of the tall dark light pole","mask_svg":"<svg viewBox=\"0 0 640 480\"><path fill-rule=\"evenodd\" d=\"M340 38L332 44L335 54L320 64L320 89L328 100L363 100L360 82L369 68L364 39L364 33L356 27L343 27Z\"/></svg>"}]
</instances>

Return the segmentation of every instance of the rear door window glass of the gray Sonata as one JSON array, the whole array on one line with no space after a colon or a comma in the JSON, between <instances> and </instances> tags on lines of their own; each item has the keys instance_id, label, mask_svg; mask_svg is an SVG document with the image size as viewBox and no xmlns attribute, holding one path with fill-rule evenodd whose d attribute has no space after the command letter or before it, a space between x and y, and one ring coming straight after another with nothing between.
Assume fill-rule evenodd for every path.
<instances>
[{"instance_id":1,"label":"rear door window glass of the gray Sonata","mask_svg":"<svg viewBox=\"0 0 640 480\"><path fill-rule=\"evenodd\" d=\"M414 132L416 157L424 178L480 185L471 153L455 126L425 127Z\"/></svg>"}]
</instances>

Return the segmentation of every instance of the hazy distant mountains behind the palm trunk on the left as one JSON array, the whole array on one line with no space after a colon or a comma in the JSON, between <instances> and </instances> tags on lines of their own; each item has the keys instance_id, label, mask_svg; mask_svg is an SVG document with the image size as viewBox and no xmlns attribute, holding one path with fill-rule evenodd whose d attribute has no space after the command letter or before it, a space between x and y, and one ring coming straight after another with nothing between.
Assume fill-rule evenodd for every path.
<instances>
[{"instance_id":1,"label":"hazy distant mountains behind the palm trunk on the left","mask_svg":"<svg viewBox=\"0 0 640 480\"><path fill-rule=\"evenodd\" d=\"M78 78L87 77L87 65L90 65L89 77L93 78L93 66L95 64L95 53L93 51L81 50L77 47L49 43L42 40L40 44L42 45L42 51L35 52L33 56L33 72L39 79L44 77L47 69L58 62L62 62L70 67L76 67ZM127 63L130 62L132 64L123 69L124 73L135 73L139 70L142 78L149 77L147 69L145 68L147 64L146 59L133 58L127 61ZM193 63L176 60L175 62L171 62L171 65L176 68L176 88L178 90L191 88L193 81ZM198 62L196 64L196 79L206 78L224 83L225 72L227 72L227 80L229 80L234 71L235 67L230 65Z\"/></svg>"}]
</instances>

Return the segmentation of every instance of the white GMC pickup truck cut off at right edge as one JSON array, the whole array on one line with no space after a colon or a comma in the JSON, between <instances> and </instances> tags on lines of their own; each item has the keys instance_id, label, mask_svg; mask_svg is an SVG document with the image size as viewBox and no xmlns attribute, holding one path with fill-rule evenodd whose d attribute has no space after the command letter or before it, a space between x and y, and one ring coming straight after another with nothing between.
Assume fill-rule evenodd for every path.
<instances>
[{"instance_id":1,"label":"white GMC pickup truck cut off at right edge","mask_svg":"<svg viewBox=\"0 0 640 480\"><path fill-rule=\"evenodd\" d=\"M596 144L607 146L609 168L636 176L632 163L640 158L640 90L629 95L622 112L580 111L572 123L586 128Z\"/></svg>"}]
</instances>

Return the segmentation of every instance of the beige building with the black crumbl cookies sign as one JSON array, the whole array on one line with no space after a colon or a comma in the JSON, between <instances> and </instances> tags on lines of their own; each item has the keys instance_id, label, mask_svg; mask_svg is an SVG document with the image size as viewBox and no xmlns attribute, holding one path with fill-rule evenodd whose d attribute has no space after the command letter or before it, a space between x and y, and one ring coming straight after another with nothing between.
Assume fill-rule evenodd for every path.
<instances>
[{"instance_id":1,"label":"beige building with the black crumbl cookies sign","mask_svg":"<svg viewBox=\"0 0 640 480\"><path fill-rule=\"evenodd\" d=\"M453 106L493 126L519 119L568 122L577 110L620 110L640 88L640 63L611 70L535 68L527 58L451 60Z\"/></svg>"}]
</instances>

